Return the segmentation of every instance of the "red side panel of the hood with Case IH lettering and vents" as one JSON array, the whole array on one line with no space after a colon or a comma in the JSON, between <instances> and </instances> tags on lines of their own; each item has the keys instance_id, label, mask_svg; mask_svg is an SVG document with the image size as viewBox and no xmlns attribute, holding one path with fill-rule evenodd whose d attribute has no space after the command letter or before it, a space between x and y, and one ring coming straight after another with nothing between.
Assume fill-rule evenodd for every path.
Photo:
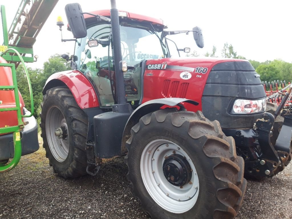
<instances>
[{"instance_id":1,"label":"red side panel of the hood with Case IH lettering and vents","mask_svg":"<svg viewBox=\"0 0 292 219\"><path fill-rule=\"evenodd\" d=\"M194 112L202 110L201 99L209 72L213 66L218 63L233 61L247 60L208 57L147 60L144 74L142 103L158 98L183 97L199 102L197 106L184 103L188 110ZM164 69L165 63L167 66ZM155 67L160 69L153 69ZM208 68L208 71L205 74L196 73L196 67ZM192 71L190 69L192 69ZM180 76L182 72L189 72L191 77L189 79L183 79Z\"/></svg>"}]
</instances>

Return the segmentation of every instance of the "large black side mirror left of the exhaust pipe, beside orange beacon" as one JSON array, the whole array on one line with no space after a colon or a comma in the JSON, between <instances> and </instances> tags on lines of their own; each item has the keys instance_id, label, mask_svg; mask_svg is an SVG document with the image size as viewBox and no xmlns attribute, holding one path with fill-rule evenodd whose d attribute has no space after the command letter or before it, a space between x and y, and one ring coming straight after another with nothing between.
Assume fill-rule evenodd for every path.
<instances>
[{"instance_id":1,"label":"large black side mirror left of the exhaust pipe, beside orange beacon","mask_svg":"<svg viewBox=\"0 0 292 219\"><path fill-rule=\"evenodd\" d=\"M81 6L78 3L67 4L65 6L65 12L74 38L79 39L85 37L87 30Z\"/></svg>"}]
</instances>

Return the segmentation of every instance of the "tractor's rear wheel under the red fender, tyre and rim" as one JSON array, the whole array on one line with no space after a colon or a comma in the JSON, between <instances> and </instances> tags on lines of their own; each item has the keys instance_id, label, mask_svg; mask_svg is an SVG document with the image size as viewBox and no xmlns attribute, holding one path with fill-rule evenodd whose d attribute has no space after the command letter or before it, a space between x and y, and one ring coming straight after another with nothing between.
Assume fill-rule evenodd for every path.
<instances>
[{"instance_id":1,"label":"tractor's rear wheel under the red fender, tyre and rim","mask_svg":"<svg viewBox=\"0 0 292 219\"><path fill-rule=\"evenodd\" d=\"M41 137L46 157L55 173L63 178L75 178L86 174L86 137L88 117L77 105L67 87L51 88L41 104ZM63 138L54 130L63 127Z\"/></svg>"}]
</instances>

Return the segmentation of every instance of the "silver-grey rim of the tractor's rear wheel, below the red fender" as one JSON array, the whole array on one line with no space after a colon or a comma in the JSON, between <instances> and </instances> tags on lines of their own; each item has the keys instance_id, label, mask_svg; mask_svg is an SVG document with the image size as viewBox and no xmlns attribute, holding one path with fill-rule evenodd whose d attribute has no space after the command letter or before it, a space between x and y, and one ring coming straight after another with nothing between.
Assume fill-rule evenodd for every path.
<instances>
[{"instance_id":1,"label":"silver-grey rim of the tractor's rear wheel, below the red fender","mask_svg":"<svg viewBox=\"0 0 292 219\"><path fill-rule=\"evenodd\" d=\"M55 131L60 127L65 128L67 131L66 138L58 138L58 136L55 136ZM59 162L65 161L69 153L68 126L63 113L56 106L48 109L46 115L46 134L48 145L55 159Z\"/></svg>"}]
</instances>

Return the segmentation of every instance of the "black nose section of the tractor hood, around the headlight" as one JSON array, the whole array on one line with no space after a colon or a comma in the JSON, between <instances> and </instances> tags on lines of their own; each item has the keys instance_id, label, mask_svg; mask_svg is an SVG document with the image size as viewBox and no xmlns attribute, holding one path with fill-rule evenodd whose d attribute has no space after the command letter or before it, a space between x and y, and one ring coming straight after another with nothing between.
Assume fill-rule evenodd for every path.
<instances>
[{"instance_id":1,"label":"black nose section of the tractor hood, around the headlight","mask_svg":"<svg viewBox=\"0 0 292 219\"><path fill-rule=\"evenodd\" d=\"M263 113L231 114L236 99L258 100L266 97L260 78L247 61L215 65L208 76L202 96L202 112L222 128L252 128Z\"/></svg>"}]
</instances>

